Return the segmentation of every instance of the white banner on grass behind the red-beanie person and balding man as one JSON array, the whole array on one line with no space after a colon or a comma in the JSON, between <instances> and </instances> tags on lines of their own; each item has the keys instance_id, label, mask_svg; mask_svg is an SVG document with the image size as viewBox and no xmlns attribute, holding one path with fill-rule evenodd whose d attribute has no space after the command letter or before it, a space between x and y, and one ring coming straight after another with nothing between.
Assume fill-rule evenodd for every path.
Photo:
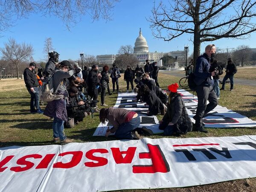
<instances>
[{"instance_id":1,"label":"white banner on grass behind the red-beanie person and balding man","mask_svg":"<svg viewBox=\"0 0 256 192\"><path fill-rule=\"evenodd\" d=\"M195 122L192 117L195 115L198 105L197 96L193 96L193 94L183 89L179 89L178 93L181 94L185 102L192 122ZM256 121L220 105L217 105L217 107L207 113L206 117L203 118L203 122L207 128L256 127Z\"/></svg>"}]
</instances>

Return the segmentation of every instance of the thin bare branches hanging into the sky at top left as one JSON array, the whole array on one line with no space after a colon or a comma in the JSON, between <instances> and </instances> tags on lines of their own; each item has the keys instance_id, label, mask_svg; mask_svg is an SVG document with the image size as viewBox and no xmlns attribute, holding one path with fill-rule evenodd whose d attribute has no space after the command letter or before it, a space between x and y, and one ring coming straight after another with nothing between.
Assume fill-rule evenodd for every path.
<instances>
[{"instance_id":1,"label":"thin bare branches hanging into the sky at top left","mask_svg":"<svg viewBox=\"0 0 256 192\"><path fill-rule=\"evenodd\" d=\"M0 31L7 30L15 25L17 19L35 12L58 17L67 29L87 14L93 21L99 18L111 20L116 2L119 0L4 0L0 1Z\"/></svg>"}]
</instances>

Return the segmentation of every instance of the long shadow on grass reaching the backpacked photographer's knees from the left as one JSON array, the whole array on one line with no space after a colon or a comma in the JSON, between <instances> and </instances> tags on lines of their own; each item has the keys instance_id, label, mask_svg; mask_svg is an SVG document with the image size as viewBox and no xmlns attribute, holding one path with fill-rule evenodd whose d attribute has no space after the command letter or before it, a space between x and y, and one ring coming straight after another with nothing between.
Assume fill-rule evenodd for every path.
<instances>
[{"instance_id":1,"label":"long shadow on grass reaching the backpacked photographer's knees from the left","mask_svg":"<svg viewBox=\"0 0 256 192\"><path fill-rule=\"evenodd\" d=\"M52 129L52 122L41 122L41 119L36 122L25 122L25 123L19 123L17 125L12 125L10 128L19 128L19 129L29 129L29 130L35 130L35 129Z\"/></svg>"}]
</instances>

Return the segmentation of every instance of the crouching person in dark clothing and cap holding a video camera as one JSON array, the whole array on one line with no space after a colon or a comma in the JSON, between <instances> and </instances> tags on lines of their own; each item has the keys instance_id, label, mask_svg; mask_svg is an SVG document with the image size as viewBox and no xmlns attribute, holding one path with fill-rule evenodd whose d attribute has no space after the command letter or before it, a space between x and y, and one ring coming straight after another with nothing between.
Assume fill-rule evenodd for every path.
<instances>
[{"instance_id":1,"label":"crouching person in dark clothing and cap holding a video camera","mask_svg":"<svg viewBox=\"0 0 256 192\"><path fill-rule=\"evenodd\" d=\"M83 121L84 117L87 116L87 112L84 108L79 108L79 106L84 105L84 101L81 95L78 94L78 89L76 87L70 87L68 90L68 102L67 107L67 128L73 128L76 124Z\"/></svg>"}]
</instances>

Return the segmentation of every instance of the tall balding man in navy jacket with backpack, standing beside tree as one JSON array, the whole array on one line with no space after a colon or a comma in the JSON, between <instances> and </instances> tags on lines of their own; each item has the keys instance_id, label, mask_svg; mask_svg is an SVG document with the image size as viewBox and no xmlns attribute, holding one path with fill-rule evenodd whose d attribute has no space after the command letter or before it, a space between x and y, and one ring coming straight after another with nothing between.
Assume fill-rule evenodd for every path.
<instances>
[{"instance_id":1,"label":"tall balding man in navy jacket with backpack, standing beside tree","mask_svg":"<svg viewBox=\"0 0 256 192\"><path fill-rule=\"evenodd\" d=\"M194 82L196 84L195 92L198 97L198 106L193 119L195 119L195 130L204 133L208 133L208 131L203 127L203 116L218 105L216 93L212 91L212 76L215 76L216 71L209 72L209 62L215 52L216 47L214 44L207 45L207 47L205 47L205 53L198 57L194 71ZM207 100L209 101L208 105Z\"/></svg>"}]
</instances>

